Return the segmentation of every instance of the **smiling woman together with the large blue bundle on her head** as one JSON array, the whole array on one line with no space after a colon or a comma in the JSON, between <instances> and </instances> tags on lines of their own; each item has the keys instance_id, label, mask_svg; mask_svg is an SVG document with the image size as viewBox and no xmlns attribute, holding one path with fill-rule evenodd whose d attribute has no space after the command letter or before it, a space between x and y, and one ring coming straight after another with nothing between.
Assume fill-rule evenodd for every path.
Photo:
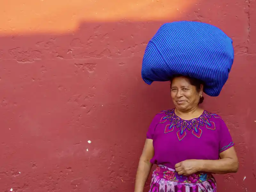
<instances>
[{"instance_id":1,"label":"smiling woman together with the large blue bundle on her head","mask_svg":"<svg viewBox=\"0 0 256 192\"><path fill-rule=\"evenodd\" d=\"M153 164L149 192L216 192L212 173L237 172L228 127L219 115L199 107L203 92L220 94L233 53L228 36L198 22L164 24L149 41L142 78L147 84L171 79L175 108L156 114L148 128L135 192L143 191Z\"/></svg>"}]
</instances>

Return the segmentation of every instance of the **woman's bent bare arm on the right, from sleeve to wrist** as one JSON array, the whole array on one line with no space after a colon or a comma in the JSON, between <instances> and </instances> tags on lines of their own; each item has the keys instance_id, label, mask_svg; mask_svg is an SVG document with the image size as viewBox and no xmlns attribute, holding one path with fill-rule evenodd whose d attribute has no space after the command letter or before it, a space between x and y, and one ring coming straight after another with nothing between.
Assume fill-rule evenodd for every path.
<instances>
[{"instance_id":1,"label":"woman's bent bare arm on the right, from sleeve to wrist","mask_svg":"<svg viewBox=\"0 0 256 192\"><path fill-rule=\"evenodd\" d=\"M217 174L235 173L239 165L234 146L221 152L218 160L198 160L197 163L197 172Z\"/></svg>"}]
</instances>

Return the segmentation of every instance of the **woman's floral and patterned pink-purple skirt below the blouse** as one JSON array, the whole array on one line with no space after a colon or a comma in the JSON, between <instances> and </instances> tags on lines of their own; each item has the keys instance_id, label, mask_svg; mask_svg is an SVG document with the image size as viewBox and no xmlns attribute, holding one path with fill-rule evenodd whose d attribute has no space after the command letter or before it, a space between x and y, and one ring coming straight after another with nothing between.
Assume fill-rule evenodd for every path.
<instances>
[{"instance_id":1,"label":"woman's floral and patterned pink-purple skirt below the blouse","mask_svg":"<svg viewBox=\"0 0 256 192\"><path fill-rule=\"evenodd\" d=\"M164 165L152 174L149 192L216 192L216 181L210 173L179 175Z\"/></svg>"}]
</instances>

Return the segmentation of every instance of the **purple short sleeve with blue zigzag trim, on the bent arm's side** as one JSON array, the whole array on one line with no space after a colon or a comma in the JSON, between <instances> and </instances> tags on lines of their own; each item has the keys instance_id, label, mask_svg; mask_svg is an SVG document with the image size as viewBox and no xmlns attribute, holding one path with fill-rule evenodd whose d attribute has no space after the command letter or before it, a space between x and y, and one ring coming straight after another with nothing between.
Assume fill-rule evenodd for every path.
<instances>
[{"instance_id":1,"label":"purple short sleeve with blue zigzag trim, on the bent arm's side","mask_svg":"<svg viewBox=\"0 0 256 192\"><path fill-rule=\"evenodd\" d=\"M225 122L221 119L220 120L220 132L219 132L219 153L231 148L234 146L234 142L231 138L230 132L228 131L228 127Z\"/></svg>"}]
</instances>

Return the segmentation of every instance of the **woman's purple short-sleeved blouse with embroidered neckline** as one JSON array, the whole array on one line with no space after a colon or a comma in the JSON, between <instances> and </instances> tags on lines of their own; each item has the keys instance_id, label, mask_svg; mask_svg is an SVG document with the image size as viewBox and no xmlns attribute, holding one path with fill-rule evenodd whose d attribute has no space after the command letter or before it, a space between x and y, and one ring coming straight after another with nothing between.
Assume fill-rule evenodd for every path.
<instances>
[{"instance_id":1,"label":"woman's purple short-sleeved blouse with embroidered neckline","mask_svg":"<svg viewBox=\"0 0 256 192\"><path fill-rule=\"evenodd\" d=\"M219 159L219 154L234 146L228 128L217 114L204 111L195 119L183 120L174 109L156 114L147 139L153 140L152 164L174 169L187 159Z\"/></svg>"}]
</instances>

